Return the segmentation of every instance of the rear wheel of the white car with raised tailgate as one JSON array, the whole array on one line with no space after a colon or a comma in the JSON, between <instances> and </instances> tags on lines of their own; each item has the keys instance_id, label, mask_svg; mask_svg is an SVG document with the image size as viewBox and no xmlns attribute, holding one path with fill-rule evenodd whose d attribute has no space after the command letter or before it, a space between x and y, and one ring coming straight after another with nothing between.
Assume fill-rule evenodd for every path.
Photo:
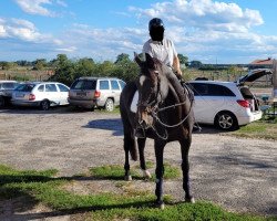
<instances>
[{"instance_id":1,"label":"rear wheel of the white car with raised tailgate","mask_svg":"<svg viewBox=\"0 0 277 221\"><path fill-rule=\"evenodd\" d=\"M215 125L223 130L235 130L238 128L236 116L230 112L220 112L216 115Z\"/></svg>"}]
</instances>

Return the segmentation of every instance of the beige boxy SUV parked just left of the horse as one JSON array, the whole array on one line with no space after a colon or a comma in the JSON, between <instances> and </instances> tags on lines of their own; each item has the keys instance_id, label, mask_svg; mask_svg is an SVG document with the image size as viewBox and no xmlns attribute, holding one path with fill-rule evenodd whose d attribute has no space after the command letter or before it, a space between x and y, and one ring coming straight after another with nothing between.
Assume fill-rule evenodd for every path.
<instances>
[{"instance_id":1,"label":"beige boxy SUV parked just left of the horse","mask_svg":"<svg viewBox=\"0 0 277 221\"><path fill-rule=\"evenodd\" d=\"M112 112L120 104L125 82L114 77L80 77L69 92L69 103L85 108L104 108Z\"/></svg>"}]
</instances>

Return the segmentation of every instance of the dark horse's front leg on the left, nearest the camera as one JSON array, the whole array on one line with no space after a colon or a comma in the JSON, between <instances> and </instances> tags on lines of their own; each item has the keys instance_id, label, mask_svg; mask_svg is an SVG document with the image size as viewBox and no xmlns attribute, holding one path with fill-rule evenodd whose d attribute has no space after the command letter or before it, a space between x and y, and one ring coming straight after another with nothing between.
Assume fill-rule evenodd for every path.
<instances>
[{"instance_id":1,"label":"dark horse's front leg on the left, nearest the camera","mask_svg":"<svg viewBox=\"0 0 277 221\"><path fill-rule=\"evenodd\" d=\"M155 140L155 157L156 157L156 204L164 209L163 201L163 177L164 177L164 141Z\"/></svg>"}]
</instances>

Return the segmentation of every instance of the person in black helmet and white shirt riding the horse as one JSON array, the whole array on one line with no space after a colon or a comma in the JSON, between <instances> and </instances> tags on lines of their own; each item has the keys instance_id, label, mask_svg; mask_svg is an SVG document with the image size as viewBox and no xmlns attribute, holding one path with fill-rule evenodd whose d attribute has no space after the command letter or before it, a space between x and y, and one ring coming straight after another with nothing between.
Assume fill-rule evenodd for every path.
<instances>
[{"instance_id":1,"label":"person in black helmet and white shirt riding the horse","mask_svg":"<svg viewBox=\"0 0 277 221\"><path fill-rule=\"evenodd\" d=\"M148 31L151 39L144 43L143 53L148 53L152 57L156 57L170 66L181 80L182 71L179 69L177 52L173 42L164 38L164 30L162 19L154 18L150 20Z\"/></svg>"}]
</instances>

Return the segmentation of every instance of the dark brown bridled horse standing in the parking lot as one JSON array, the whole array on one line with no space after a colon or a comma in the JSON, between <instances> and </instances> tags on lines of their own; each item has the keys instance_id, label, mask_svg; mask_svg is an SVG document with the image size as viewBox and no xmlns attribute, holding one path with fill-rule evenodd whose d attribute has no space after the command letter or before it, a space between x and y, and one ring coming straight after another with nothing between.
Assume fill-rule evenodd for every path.
<instances>
[{"instance_id":1,"label":"dark brown bridled horse standing in the parking lot","mask_svg":"<svg viewBox=\"0 0 277 221\"><path fill-rule=\"evenodd\" d=\"M146 138L154 139L156 159L156 188L155 204L163 209L163 176L164 176L164 147L170 141L178 141L182 154L183 189L185 201L194 202L189 187L188 150L192 144L194 125L193 93L188 87L182 86L172 69L150 54L141 57L135 54L135 62L140 66L140 75L135 81L125 85L121 93L120 113L123 123L124 151L125 151L125 180L132 180L130 175L129 154L137 160L137 146L140 165L145 177L146 170L144 148ZM135 92L138 92L136 113L131 110ZM143 130L143 137L136 137L135 131ZM136 146L137 145L137 146Z\"/></svg>"}]
</instances>

